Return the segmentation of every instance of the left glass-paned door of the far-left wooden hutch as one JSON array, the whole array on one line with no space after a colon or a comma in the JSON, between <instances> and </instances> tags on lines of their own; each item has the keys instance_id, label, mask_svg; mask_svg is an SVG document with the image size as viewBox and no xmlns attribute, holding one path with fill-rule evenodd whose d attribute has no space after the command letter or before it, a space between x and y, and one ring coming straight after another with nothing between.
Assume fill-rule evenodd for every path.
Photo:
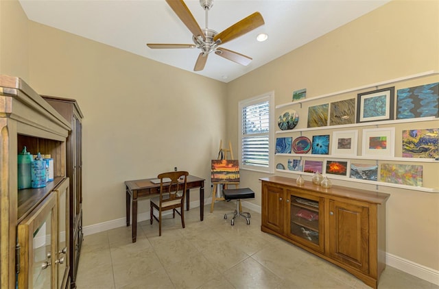
<instances>
[{"instance_id":1,"label":"left glass-paned door of the far-left wooden hutch","mask_svg":"<svg viewBox=\"0 0 439 289\"><path fill-rule=\"evenodd\" d=\"M18 226L18 288L54 288L56 195L51 194Z\"/></svg>"}]
</instances>

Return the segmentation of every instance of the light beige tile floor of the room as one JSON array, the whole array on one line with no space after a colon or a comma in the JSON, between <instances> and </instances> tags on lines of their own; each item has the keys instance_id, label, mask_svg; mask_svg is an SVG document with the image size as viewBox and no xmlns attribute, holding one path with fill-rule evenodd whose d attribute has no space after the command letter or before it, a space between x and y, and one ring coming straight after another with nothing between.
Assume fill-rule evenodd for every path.
<instances>
[{"instance_id":1,"label":"light beige tile floor of the room","mask_svg":"<svg viewBox=\"0 0 439 289\"><path fill-rule=\"evenodd\" d=\"M261 214L251 212L230 225L224 213L235 204L197 208L180 218L165 216L162 236L158 223L120 227L84 237L77 286L84 288L369 288L343 269L261 231ZM248 210L245 210L248 211ZM387 266L379 289L438 289L439 286Z\"/></svg>"}]
</instances>

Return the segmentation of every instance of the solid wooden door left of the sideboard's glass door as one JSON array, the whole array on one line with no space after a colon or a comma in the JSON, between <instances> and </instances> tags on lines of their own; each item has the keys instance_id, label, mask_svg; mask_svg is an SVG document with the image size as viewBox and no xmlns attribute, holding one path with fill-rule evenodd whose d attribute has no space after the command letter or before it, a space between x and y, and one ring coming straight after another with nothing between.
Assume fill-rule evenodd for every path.
<instances>
[{"instance_id":1,"label":"solid wooden door left of the sideboard's glass door","mask_svg":"<svg viewBox=\"0 0 439 289\"><path fill-rule=\"evenodd\" d=\"M285 194L283 188L265 184L262 187L262 225L283 234Z\"/></svg>"}]
</instances>

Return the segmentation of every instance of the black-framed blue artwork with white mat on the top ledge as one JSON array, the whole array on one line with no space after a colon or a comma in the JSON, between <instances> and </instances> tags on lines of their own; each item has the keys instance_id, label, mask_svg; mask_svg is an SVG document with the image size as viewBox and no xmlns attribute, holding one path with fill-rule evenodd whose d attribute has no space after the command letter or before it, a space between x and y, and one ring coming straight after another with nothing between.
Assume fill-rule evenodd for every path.
<instances>
[{"instance_id":1,"label":"black-framed blue artwork with white mat on the top ledge","mask_svg":"<svg viewBox=\"0 0 439 289\"><path fill-rule=\"evenodd\" d=\"M383 88L357 95L357 123L393 119L395 87Z\"/></svg>"}]
</instances>

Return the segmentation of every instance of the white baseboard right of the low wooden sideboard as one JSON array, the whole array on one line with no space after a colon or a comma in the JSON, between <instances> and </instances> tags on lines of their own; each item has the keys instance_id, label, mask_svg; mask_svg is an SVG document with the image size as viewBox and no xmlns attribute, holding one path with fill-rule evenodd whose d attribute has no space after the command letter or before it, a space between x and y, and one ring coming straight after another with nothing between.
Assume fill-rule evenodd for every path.
<instances>
[{"instance_id":1,"label":"white baseboard right of the low wooden sideboard","mask_svg":"<svg viewBox=\"0 0 439 289\"><path fill-rule=\"evenodd\" d=\"M417 264L390 253L385 254L385 264L425 281L429 281L430 283L439 285L439 271L433 268Z\"/></svg>"}]
</instances>

